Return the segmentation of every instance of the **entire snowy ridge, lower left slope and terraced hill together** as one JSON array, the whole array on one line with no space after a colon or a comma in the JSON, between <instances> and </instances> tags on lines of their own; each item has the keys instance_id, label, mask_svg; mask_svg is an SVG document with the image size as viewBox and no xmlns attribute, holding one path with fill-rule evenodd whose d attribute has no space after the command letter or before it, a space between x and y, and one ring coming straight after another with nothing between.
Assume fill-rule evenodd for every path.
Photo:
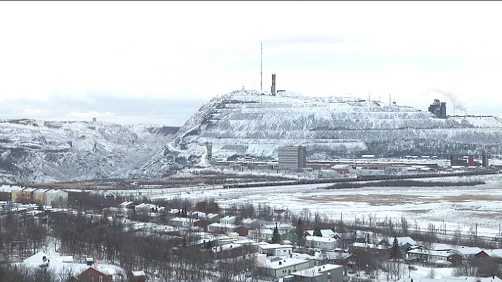
<instances>
[{"instance_id":1,"label":"entire snowy ridge, lower left slope and terraced hill together","mask_svg":"<svg viewBox=\"0 0 502 282\"><path fill-rule=\"evenodd\" d=\"M502 122L491 116L439 119L411 107L354 98L239 90L204 104L179 130L0 120L0 181L159 177L173 169L208 165L206 144L221 159L276 159L277 149L285 145L306 146L309 160L365 153L500 154Z\"/></svg>"}]
</instances>

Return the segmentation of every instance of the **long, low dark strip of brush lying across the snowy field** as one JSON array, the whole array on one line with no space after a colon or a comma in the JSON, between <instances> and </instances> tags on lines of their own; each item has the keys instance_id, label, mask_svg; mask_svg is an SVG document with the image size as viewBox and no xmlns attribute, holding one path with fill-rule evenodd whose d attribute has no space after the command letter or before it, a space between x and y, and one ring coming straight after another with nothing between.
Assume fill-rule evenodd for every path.
<instances>
[{"instance_id":1,"label":"long, low dark strip of brush lying across the snowy field","mask_svg":"<svg viewBox=\"0 0 502 282\"><path fill-rule=\"evenodd\" d=\"M329 185L324 189L351 189L362 187L456 187L456 186L476 186L486 184L484 181L416 181L416 180L391 180L380 182L365 182L365 183L337 183Z\"/></svg>"}]
</instances>

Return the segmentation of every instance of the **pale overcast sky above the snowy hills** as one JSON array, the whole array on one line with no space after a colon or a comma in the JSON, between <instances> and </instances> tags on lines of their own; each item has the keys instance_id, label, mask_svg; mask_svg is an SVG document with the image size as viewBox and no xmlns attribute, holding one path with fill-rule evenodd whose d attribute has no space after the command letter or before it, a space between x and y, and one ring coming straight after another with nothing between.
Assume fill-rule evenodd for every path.
<instances>
[{"instance_id":1,"label":"pale overcast sky above the snowy hills","mask_svg":"<svg viewBox=\"0 0 502 282\"><path fill-rule=\"evenodd\" d=\"M0 118L181 125L263 87L502 115L500 2L0 2ZM458 111L458 110L457 110ZM459 113L459 111L457 112Z\"/></svg>"}]
</instances>

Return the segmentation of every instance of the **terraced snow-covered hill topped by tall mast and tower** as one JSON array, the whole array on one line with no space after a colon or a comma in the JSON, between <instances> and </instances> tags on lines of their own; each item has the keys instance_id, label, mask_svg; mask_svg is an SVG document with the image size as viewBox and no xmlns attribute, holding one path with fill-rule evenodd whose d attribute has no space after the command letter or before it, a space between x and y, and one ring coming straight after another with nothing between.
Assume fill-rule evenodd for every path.
<instances>
[{"instance_id":1,"label":"terraced snow-covered hill topped by tall mast and tower","mask_svg":"<svg viewBox=\"0 0 502 282\"><path fill-rule=\"evenodd\" d=\"M424 109L427 108L424 101ZM500 154L502 121L494 116L436 118L428 111L354 98L313 98L293 92L270 96L239 90L203 105L172 144L146 170L172 165L175 153L205 162L205 144L215 158L251 155L275 159L279 146L303 145L309 159L380 156Z\"/></svg>"}]
</instances>

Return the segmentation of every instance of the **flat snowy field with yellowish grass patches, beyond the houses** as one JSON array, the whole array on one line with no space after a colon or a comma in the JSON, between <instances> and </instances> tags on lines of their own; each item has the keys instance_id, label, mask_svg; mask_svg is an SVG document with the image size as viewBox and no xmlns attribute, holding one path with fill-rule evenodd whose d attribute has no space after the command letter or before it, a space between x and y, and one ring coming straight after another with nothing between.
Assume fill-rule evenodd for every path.
<instances>
[{"instance_id":1,"label":"flat snowy field with yellowish grass patches, beyond the houses","mask_svg":"<svg viewBox=\"0 0 502 282\"><path fill-rule=\"evenodd\" d=\"M393 222L406 217L414 228L421 230L433 223L447 230L461 227L467 234L478 223L478 234L495 236L502 222L502 175L447 177L420 179L421 181L485 181L476 186L452 187L363 187L360 189L325 190L329 184L253 187L223 189L221 186L186 187L183 189L155 189L144 187L136 191L117 191L118 194L136 194L151 199L215 199L220 205L250 202L274 208L287 208L301 212L304 208L319 212L328 219L366 222L368 218ZM152 189L153 188L153 189Z\"/></svg>"}]
</instances>

